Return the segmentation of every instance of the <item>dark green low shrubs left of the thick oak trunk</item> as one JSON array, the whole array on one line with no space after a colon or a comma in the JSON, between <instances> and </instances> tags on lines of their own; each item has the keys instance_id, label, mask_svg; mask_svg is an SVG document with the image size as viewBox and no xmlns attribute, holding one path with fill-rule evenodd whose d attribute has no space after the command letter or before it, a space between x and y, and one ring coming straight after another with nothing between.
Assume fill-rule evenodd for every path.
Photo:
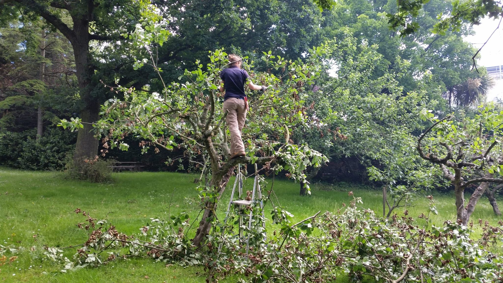
<instances>
[{"instance_id":1,"label":"dark green low shrubs left of the thick oak trunk","mask_svg":"<svg viewBox=\"0 0 503 283\"><path fill-rule=\"evenodd\" d=\"M73 154L76 134L48 128L36 140L36 129L0 131L0 165L29 170L60 170Z\"/></svg>"}]
</instances>

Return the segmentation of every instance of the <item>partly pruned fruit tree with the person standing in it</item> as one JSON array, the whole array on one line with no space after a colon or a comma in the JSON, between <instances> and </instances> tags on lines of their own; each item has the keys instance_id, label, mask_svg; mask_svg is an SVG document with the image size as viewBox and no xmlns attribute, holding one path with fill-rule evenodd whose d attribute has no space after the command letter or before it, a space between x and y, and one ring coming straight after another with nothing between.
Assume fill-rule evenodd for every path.
<instances>
[{"instance_id":1,"label":"partly pruned fruit tree with the person standing in it","mask_svg":"<svg viewBox=\"0 0 503 283\"><path fill-rule=\"evenodd\" d=\"M162 93L149 94L121 86L112 88L122 92L124 97L105 102L102 119L94 127L96 134L103 137L105 149L119 147L127 150L129 145L123 139L133 135L145 140L140 144L144 151L152 147L156 152L159 148L173 150L179 147L208 161L211 179L204 189L204 213L193 239L193 244L199 246L210 232L217 203L238 163L259 163L275 172L286 170L290 178L303 181L306 177L303 170L307 166L319 167L327 161L325 156L305 144L289 143L288 134L289 128L304 127L312 119L306 114L303 98L308 95L313 80L320 75L321 67L319 64L287 61L271 52L264 53L263 59L273 72L249 72L250 77L262 85L275 85L278 90L248 94L251 97L250 111L242 133L247 156L229 160L226 114L222 111L223 97L217 91L219 73L228 64L227 54L222 50L210 52L210 63L206 66L198 60L194 70L185 70L179 78L184 83L165 85L161 69L156 65L155 52L151 52L152 43L162 44L169 36L164 26L163 22L145 22L126 35L143 47L149 56L137 60L134 67L149 64L155 68L163 85ZM243 63L245 66L253 64ZM78 118L62 120L60 125L72 129L82 127ZM283 135L286 140L282 144L280 137ZM308 184L305 185L308 188Z\"/></svg>"}]
</instances>

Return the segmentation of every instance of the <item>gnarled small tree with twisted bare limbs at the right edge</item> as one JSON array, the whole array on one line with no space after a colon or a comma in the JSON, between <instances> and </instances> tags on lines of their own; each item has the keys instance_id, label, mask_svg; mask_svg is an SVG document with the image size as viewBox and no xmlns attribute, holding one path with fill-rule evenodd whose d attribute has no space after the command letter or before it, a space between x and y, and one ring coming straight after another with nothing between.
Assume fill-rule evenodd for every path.
<instances>
[{"instance_id":1,"label":"gnarled small tree with twisted bare limbs at the right edge","mask_svg":"<svg viewBox=\"0 0 503 283\"><path fill-rule=\"evenodd\" d=\"M503 183L503 111L493 103L478 107L474 117L433 119L434 124L418 139L420 156L437 164L454 185L457 220L467 225L477 201L491 183ZM465 203L464 191L477 185Z\"/></svg>"}]
</instances>

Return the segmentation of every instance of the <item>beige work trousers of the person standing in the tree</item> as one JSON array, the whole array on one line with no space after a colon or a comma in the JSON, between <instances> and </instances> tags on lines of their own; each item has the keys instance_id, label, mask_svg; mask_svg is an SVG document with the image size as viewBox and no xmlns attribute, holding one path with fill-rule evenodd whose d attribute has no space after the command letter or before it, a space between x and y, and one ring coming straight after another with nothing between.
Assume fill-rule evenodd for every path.
<instances>
[{"instance_id":1,"label":"beige work trousers of the person standing in the tree","mask_svg":"<svg viewBox=\"0 0 503 283\"><path fill-rule=\"evenodd\" d=\"M243 99L227 98L223 102L223 110L227 112L225 123L230 131L230 154L243 152L244 144L241 130L246 119L246 105Z\"/></svg>"}]
</instances>

